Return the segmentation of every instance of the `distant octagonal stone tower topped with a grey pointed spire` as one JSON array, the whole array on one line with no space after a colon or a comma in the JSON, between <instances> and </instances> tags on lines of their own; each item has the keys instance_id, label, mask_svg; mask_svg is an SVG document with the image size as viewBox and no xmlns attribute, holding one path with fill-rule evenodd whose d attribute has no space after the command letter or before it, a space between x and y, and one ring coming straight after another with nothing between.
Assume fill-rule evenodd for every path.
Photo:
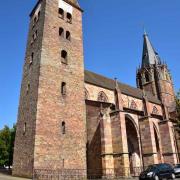
<instances>
[{"instance_id":1,"label":"distant octagonal stone tower topped with a grey pointed spire","mask_svg":"<svg viewBox=\"0 0 180 180\"><path fill-rule=\"evenodd\" d=\"M170 113L174 112L175 94L170 71L153 48L148 35L144 33L143 37L142 65L137 71L137 86L151 92Z\"/></svg>"}]
</instances>

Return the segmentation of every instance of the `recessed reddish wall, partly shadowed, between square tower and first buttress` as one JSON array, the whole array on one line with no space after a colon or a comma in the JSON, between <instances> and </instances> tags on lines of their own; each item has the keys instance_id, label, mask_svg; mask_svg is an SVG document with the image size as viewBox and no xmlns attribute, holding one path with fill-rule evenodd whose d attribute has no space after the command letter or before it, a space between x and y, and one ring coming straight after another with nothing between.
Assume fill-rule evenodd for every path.
<instances>
[{"instance_id":1,"label":"recessed reddish wall, partly shadowed, between square tower and first buttress","mask_svg":"<svg viewBox=\"0 0 180 180\"><path fill-rule=\"evenodd\" d=\"M102 169L100 103L86 101L87 117L87 168L91 173Z\"/></svg>"}]
</instances>

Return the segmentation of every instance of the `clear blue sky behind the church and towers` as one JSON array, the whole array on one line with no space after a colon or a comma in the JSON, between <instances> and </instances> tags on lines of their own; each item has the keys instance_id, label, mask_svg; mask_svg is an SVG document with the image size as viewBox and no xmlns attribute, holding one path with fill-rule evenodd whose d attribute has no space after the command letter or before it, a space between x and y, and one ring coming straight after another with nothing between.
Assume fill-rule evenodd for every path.
<instances>
[{"instance_id":1,"label":"clear blue sky behind the church and towers","mask_svg":"<svg viewBox=\"0 0 180 180\"><path fill-rule=\"evenodd\" d=\"M29 13L36 0L0 6L0 128L17 119ZM143 25L180 88L179 0L79 0L84 9L85 68L136 86Z\"/></svg>"}]
</instances>

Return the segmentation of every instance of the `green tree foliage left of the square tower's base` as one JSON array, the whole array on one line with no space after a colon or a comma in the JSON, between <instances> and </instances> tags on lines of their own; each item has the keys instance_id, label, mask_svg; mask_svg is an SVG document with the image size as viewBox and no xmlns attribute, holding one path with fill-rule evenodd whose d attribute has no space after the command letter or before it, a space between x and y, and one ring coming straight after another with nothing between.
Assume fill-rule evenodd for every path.
<instances>
[{"instance_id":1,"label":"green tree foliage left of the square tower's base","mask_svg":"<svg viewBox=\"0 0 180 180\"><path fill-rule=\"evenodd\" d=\"M0 166L10 167L12 165L15 133L15 125L12 129L4 126L4 128L0 130Z\"/></svg>"}]
</instances>

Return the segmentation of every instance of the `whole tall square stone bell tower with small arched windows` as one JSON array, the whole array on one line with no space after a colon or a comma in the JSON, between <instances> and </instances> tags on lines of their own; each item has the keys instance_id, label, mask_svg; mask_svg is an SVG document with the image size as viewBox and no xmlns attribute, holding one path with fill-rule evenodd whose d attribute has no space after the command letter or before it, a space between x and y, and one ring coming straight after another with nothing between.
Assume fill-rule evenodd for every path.
<instances>
[{"instance_id":1,"label":"whole tall square stone bell tower with small arched windows","mask_svg":"<svg viewBox=\"0 0 180 180\"><path fill-rule=\"evenodd\" d=\"M13 174L86 169L82 10L39 0L30 14Z\"/></svg>"}]
</instances>

